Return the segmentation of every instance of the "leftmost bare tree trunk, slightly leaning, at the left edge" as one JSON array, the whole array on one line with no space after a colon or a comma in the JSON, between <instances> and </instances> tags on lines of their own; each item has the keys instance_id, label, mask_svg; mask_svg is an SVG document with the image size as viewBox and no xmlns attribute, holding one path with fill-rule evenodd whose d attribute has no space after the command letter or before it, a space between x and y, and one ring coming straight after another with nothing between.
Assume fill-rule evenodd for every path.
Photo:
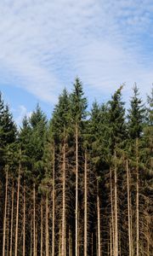
<instances>
[{"instance_id":1,"label":"leftmost bare tree trunk, slightly leaning, at the left edge","mask_svg":"<svg viewBox=\"0 0 153 256\"><path fill-rule=\"evenodd\" d=\"M8 166L6 169L6 182L5 182L5 207L3 216L3 256L5 256L5 240L6 240L6 215L7 215L7 202L8 202Z\"/></svg>"}]
</instances>

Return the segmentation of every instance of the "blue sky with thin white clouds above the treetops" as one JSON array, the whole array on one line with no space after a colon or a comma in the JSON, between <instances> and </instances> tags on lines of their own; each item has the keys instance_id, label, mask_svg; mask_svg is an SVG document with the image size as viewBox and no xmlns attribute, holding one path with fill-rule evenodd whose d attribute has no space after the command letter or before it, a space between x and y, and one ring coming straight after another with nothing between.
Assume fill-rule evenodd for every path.
<instances>
[{"instance_id":1,"label":"blue sky with thin white clouds above the treetops","mask_svg":"<svg viewBox=\"0 0 153 256\"><path fill-rule=\"evenodd\" d=\"M144 98L153 83L152 0L0 1L0 90L20 124L37 102L50 116L82 79L89 104L125 83Z\"/></svg>"}]
</instances>

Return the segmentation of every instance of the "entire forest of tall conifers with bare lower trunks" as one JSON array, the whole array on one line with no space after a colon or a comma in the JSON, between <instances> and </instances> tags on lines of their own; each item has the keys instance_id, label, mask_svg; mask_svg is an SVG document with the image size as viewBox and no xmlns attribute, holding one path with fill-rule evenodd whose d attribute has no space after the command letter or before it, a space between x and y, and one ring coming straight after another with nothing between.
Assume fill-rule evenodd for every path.
<instances>
[{"instance_id":1,"label":"entire forest of tall conifers with bare lower trunks","mask_svg":"<svg viewBox=\"0 0 153 256\"><path fill-rule=\"evenodd\" d=\"M152 255L153 88L128 103L77 78L19 128L0 93L0 255Z\"/></svg>"}]
</instances>

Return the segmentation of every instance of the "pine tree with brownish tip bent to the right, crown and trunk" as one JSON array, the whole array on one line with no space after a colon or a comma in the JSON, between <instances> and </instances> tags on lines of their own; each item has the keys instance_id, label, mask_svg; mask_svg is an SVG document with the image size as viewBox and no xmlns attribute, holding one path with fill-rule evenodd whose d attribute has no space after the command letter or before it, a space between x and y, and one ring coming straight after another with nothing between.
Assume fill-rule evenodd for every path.
<instances>
[{"instance_id":1,"label":"pine tree with brownish tip bent to the right, crown and trunk","mask_svg":"<svg viewBox=\"0 0 153 256\"><path fill-rule=\"evenodd\" d=\"M122 143L126 139L126 125L125 125L125 108L123 108L124 102L122 102L122 86L116 90L115 94L111 97L111 101L109 102L109 126L110 126L110 152L112 154L111 157L111 168L114 169L114 256L117 256L119 253L119 232L118 232L118 224L119 224L119 206L118 206L118 176L119 173L117 171L117 153L118 149L121 150ZM112 229L113 229L112 226Z\"/></svg>"}]
</instances>

